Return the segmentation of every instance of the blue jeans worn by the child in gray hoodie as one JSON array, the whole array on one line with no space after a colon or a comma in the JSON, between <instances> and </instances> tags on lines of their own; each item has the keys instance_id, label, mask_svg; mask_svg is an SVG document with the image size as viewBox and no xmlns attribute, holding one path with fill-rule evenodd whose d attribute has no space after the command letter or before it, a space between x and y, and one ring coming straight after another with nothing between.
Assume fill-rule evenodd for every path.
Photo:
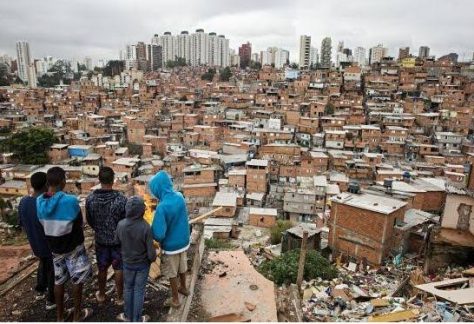
<instances>
[{"instance_id":1,"label":"blue jeans worn by the child in gray hoodie","mask_svg":"<svg viewBox=\"0 0 474 324\"><path fill-rule=\"evenodd\" d=\"M131 322L142 321L143 302L145 299L145 287L148 280L150 264L127 264L123 265L123 299L125 317Z\"/></svg>"}]
</instances>

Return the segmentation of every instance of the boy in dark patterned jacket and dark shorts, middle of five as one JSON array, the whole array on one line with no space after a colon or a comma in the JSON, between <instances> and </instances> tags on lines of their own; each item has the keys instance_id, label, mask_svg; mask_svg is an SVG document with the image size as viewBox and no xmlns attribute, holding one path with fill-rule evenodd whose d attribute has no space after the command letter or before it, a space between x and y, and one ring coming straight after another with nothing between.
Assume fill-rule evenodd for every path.
<instances>
[{"instance_id":1,"label":"boy in dark patterned jacket and dark shorts, middle of five","mask_svg":"<svg viewBox=\"0 0 474 324\"><path fill-rule=\"evenodd\" d=\"M86 199L86 219L95 231L95 253L97 258L99 304L105 302L105 284L110 266L114 269L117 305L123 305L123 272L120 243L116 238L117 224L125 218L127 198L113 190L114 171L109 167L99 170L101 189L94 190Z\"/></svg>"}]
</instances>

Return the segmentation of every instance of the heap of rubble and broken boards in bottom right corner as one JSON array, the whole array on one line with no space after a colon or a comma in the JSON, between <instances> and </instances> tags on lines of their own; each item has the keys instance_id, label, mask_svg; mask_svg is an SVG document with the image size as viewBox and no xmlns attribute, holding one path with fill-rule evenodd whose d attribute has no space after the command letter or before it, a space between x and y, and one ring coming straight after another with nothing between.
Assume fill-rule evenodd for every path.
<instances>
[{"instance_id":1,"label":"heap of rubble and broken boards in bottom right corner","mask_svg":"<svg viewBox=\"0 0 474 324\"><path fill-rule=\"evenodd\" d=\"M407 269L410 269L407 267ZM456 305L424 293L415 286L463 275L463 268L445 275L424 276L419 268L401 271L390 267L350 271L339 268L339 278L303 282L305 321L473 321L474 303ZM464 271L465 273L465 271ZM474 280L470 281L474 287Z\"/></svg>"}]
</instances>

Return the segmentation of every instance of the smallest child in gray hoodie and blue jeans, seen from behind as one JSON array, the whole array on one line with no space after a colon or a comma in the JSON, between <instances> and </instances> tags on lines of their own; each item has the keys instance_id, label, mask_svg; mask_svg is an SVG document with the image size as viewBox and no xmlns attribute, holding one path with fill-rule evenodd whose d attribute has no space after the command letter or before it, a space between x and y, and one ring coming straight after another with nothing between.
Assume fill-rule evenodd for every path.
<instances>
[{"instance_id":1,"label":"smallest child in gray hoodie and blue jeans, seen from behind","mask_svg":"<svg viewBox=\"0 0 474 324\"><path fill-rule=\"evenodd\" d=\"M126 218L117 225L117 239L122 247L124 277L124 313L120 321L146 322L142 316L145 286L150 264L156 259L150 225L143 219L145 202L141 197L130 197L125 205Z\"/></svg>"}]
</instances>

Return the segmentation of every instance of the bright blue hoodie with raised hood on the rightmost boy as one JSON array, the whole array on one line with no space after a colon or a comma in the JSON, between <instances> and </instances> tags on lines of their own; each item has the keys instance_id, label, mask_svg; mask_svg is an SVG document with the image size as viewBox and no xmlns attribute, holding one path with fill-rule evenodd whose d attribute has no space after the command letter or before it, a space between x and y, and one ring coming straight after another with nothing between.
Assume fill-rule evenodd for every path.
<instances>
[{"instance_id":1,"label":"bright blue hoodie with raised hood on the rightmost boy","mask_svg":"<svg viewBox=\"0 0 474 324\"><path fill-rule=\"evenodd\" d=\"M189 221L186 202L165 171L159 171L149 184L150 192L160 200L153 218L153 238L165 254L178 254L189 248Z\"/></svg>"}]
</instances>

